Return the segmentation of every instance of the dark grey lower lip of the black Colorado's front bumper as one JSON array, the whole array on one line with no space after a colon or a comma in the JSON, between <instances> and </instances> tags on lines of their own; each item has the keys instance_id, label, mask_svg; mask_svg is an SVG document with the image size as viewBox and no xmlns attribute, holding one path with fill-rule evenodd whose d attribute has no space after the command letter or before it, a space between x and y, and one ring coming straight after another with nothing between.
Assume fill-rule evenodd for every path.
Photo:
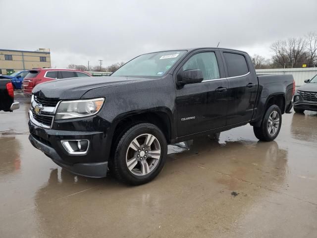
<instances>
[{"instance_id":1,"label":"dark grey lower lip of the black Colorado's front bumper","mask_svg":"<svg viewBox=\"0 0 317 238\"><path fill-rule=\"evenodd\" d=\"M92 178L106 177L108 168L107 161L101 163L65 163L52 147L37 140L34 136L32 136L32 134L29 135L29 140L35 148L41 150L44 154L50 157L54 163L76 175Z\"/></svg>"}]
</instances>

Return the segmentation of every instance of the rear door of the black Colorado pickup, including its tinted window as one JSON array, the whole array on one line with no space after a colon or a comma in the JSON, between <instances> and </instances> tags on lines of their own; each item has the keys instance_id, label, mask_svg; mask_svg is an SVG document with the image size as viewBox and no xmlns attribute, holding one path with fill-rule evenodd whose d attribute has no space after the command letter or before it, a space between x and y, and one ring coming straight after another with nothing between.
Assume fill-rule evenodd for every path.
<instances>
[{"instance_id":1,"label":"rear door of the black Colorado pickup, including its tinted window","mask_svg":"<svg viewBox=\"0 0 317 238\"><path fill-rule=\"evenodd\" d=\"M222 52L227 69L228 110L227 125L250 121L258 92L258 79L250 73L246 55Z\"/></svg>"}]
</instances>

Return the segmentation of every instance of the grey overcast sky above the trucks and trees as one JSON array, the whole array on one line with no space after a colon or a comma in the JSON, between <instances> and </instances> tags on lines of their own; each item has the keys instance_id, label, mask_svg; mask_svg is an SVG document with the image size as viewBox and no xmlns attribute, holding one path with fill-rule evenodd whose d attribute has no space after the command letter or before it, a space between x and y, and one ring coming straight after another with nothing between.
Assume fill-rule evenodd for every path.
<instances>
[{"instance_id":1,"label":"grey overcast sky above the trucks and trees","mask_svg":"<svg viewBox=\"0 0 317 238\"><path fill-rule=\"evenodd\" d=\"M269 45L317 31L317 0L0 0L0 49L50 48L52 67L152 51Z\"/></svg>"}]
</instances>

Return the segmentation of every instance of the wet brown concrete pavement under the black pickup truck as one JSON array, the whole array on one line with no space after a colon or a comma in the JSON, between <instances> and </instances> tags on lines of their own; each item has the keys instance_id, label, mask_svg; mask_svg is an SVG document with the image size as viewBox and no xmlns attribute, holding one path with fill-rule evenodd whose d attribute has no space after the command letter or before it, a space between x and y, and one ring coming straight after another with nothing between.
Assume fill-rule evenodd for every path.
<instances>
[{"instance_id":1,"label":"wet brown concrete pavement under the black pickup truck","mask_svg":"<svg viewBox=\"0 0 317 238\"><path fill-rule=\"evenodd\" d=\"M317 114L283 115L273 142L250 125L170 145L142 186L89 179L28 141L28 101L0 112L0 238L317 237Z\"/></svg>"}]
</instances>

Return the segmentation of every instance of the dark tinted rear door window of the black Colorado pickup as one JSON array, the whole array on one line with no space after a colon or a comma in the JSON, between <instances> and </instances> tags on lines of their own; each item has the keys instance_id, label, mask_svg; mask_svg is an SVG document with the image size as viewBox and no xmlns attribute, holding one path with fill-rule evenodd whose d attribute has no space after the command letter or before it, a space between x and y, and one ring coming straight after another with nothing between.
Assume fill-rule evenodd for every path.
<instances>
[{"instance_id":1,"label":"dark tinted rear door window of the black Colorado pickup","mask_svg":"<svg viewBox=\"0 0 317 238\"><path fill-rule=\"evenodd\" d=\"M246 58L234 53L223 53L229 77L241 76L249 72Z\"/></svg>"}]
</instances>

